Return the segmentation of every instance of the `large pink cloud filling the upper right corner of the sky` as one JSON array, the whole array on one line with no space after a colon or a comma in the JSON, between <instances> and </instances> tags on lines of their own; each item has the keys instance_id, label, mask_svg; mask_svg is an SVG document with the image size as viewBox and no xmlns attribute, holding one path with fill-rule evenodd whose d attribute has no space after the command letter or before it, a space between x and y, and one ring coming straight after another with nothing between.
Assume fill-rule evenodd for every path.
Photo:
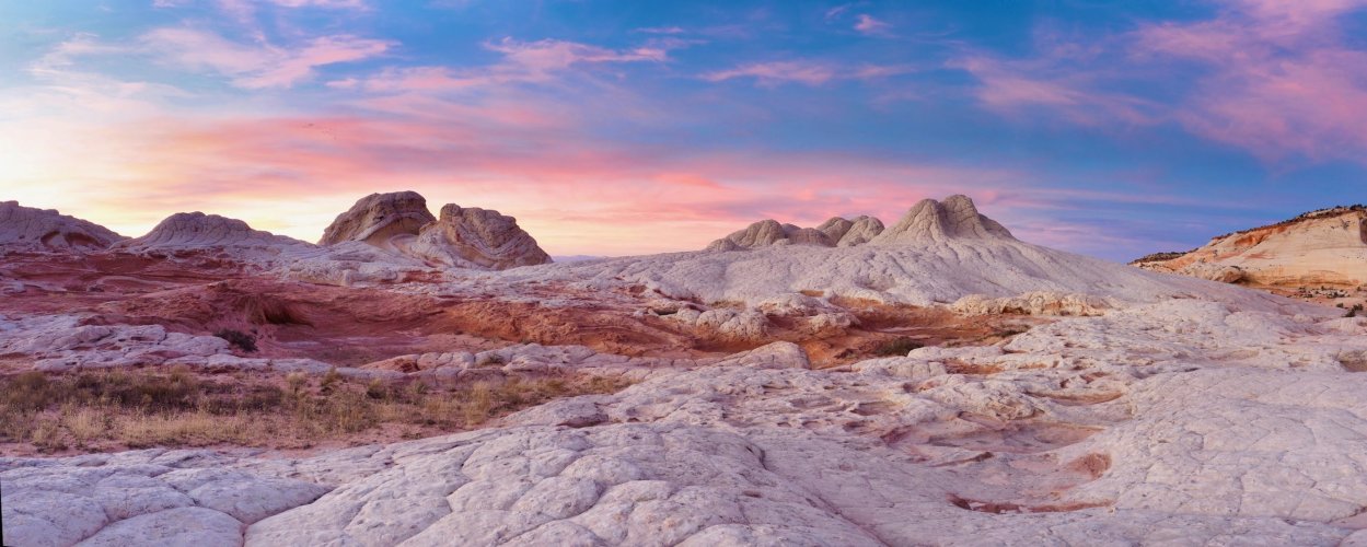
<instances>
[{"instance_id":1,"label":"large pink cloud filling the upper right corner of the sky","mask_svg":"<svg viewBox=\"0 0 1367 547\"><path fill-rule=\"evenodd\" d=\"M1207 67L1173 116L1195 134L1278 160L1367 152L1367 52L1338 18L1363 1L1239 1L1218 19L1155 25L1136 49Z\"/></svg>"}]
</instances>

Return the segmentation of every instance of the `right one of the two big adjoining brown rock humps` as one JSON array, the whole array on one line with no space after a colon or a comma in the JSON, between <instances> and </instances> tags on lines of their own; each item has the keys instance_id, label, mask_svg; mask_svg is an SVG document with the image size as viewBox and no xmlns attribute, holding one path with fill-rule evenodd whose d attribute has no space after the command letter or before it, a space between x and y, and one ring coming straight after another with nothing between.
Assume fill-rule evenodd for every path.
<instances>
[{"instance_id":1,"label":"right one of the two big adjoining brown rock humps","mask_svg":"<svg viewBox=\"0 0 1367 547\"><path fill-rule=\"evenodd\" d=\"M422 227L410 252L462 268L507 269L551 261L517 219L455 204L443 206L442 216Z\"/></svg>"}]
</instances>

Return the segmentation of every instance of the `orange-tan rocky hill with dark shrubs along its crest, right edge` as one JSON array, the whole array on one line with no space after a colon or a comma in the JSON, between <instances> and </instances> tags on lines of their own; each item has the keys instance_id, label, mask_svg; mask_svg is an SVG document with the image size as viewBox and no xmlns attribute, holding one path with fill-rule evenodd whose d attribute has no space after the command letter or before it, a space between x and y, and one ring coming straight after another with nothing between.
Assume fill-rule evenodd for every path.
<instances>
[{"instance_id":1,"label":"orange-tan rocky hill with dark shrubs along its crest, right edge","mask_svg":"<svg viewBox=\"0 0 1367 547\"><path fill-rule=\"evenodd\" d=\"M1213 238L1187 253L1156 253L1132 264L1226 283L1362 286L1367 284L1367 206L1312 211Z\"/></svg>"}]
</instances>

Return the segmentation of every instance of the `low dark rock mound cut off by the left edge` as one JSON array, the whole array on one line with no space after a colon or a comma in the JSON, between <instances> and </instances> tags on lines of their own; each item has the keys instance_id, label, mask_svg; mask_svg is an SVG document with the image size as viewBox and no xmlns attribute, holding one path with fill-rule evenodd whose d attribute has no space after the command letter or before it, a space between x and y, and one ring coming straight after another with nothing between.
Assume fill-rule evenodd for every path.
<instances>
[{"instance_id":1,"label":"low dark rock mound cut off by the left edge","mask_svg":"<svg viewBox=\"0 0 1367 547\"><path fill-rule=\"evenodd\" d=\"M0 202L0 249L4 250L92 252L122 239L126 238L109 228L55 209Z\"/></svg>"}]
</instances>

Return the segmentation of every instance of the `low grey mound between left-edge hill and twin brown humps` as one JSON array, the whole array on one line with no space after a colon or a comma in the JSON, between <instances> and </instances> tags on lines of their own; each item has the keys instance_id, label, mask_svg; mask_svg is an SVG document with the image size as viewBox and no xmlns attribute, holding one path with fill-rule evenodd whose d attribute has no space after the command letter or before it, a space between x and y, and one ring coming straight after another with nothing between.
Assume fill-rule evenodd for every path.
<instances>
[{"instance_id":1,"label":"low grey mound between left-edge hill and twin brown humps","mask_svg":"<svg viewBox=\"0 0 1367 547\"><path fill-rule=\"evenodd\" d=\"M148 252L227 248L279 249L295 246L312 248L312 245L294 238L252 230L247 223L238 219L193 212L171 215L152 228L148 235L119 242L113 249Z\"/></svg>"}]
</instances>

